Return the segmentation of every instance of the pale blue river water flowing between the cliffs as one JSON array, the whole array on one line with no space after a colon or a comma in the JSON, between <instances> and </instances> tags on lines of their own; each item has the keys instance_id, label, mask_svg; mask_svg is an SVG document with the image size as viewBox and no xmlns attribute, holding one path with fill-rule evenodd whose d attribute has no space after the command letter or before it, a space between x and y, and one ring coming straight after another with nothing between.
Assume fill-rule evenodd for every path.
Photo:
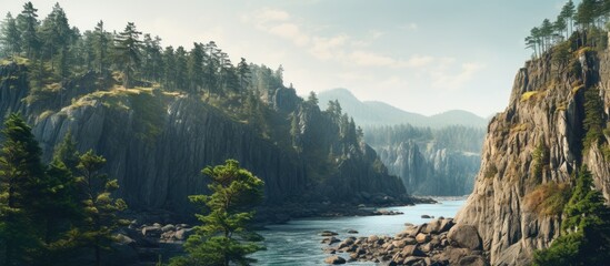
<instances>
[{"instance_id":1,"label":"pale blue river water flowing between the cliffs","mask_svg":"<svg viewBox=\"0 0 610 266\"><path fill-rule=\"evenodd\" d=\"M320 244L322 231L339 233L336 236L344 239L348 236L388 235L393 236L404 229L404 223L422 224L430 219L421 215L434 217L453 217L464 201L440 201L439 204L418 204L416 206L388 207L404 214L389 216L303 218L290 221L282 225L270 225L259 232L264 237L267 250L256 253L252 257L259 262L254 265L326 265L324 258L330 256L322 252ZM356 229L358 234L348 234ZM343 256L346 258L346 256ZM352 265L374 265L372 263L350 263Z\"/></svg>"}]
</instances>

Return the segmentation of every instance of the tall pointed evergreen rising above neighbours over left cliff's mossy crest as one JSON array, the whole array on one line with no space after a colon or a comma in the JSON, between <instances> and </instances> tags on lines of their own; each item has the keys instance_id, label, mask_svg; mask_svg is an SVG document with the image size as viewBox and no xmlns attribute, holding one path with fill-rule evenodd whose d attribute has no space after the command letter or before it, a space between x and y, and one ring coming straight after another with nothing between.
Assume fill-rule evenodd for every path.
<instances>
[{"instance_id":1,"label":"tall pointed evergreen rising above neighbours over left cliff's mossy crest","mask_svg":"<svg viewBox=\"0 0 610 266\"><path fill-rule=\"evenodd\" d=\"M124 30L119 33L116 40L116 57L119 68L123 72L123 86L130 89L132 79L141 62L141 41L139 40L142 32L136 29L133 22L128 22Z\"/></svg>"}]
</instances>

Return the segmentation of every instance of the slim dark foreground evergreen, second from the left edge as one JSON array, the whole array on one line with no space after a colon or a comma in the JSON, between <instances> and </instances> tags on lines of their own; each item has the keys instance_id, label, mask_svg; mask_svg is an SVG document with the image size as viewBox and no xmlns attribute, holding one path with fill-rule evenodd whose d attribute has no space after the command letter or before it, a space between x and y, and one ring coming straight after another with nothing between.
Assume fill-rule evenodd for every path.
<instances>
[{"instance_id":1,"label":"slim dark foreground evergreen, second from the left edge","mask_svg":"<svg viewBox=\"0 0 610 266\"><path fill-rule=\"evenodd\" d=\"M112 198L111 193L119 188L117 180L110 180L100 171L106 158L89 151L80 156L77 168L82 174L79 177L84 194L84 222L81 235L88 246L94 249L96 265L101 265L101 253L108 249L114 241L112 231L124 224L118 218L118 212L124 211L127 204L121 198Z\"/></svg>"}]
</instances>

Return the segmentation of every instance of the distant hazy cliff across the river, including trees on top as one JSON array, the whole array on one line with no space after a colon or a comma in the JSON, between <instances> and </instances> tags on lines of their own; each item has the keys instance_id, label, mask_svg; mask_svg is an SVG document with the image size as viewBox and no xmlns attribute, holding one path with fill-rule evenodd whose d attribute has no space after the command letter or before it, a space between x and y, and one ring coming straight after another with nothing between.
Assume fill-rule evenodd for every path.
<instances>
[{"instance_id":1,"label":"distant hazy cliff across the river, including trees on top","mask_svg":"<svg viewBox=\"0 0 610 266\"><path fill-rule=\"evenodd\" d=\"M409 193L461 196L472 192L480 165L483 129L402 124L366 127L364 135L389 173L401 177Z\"/></svg>"}]
</instances>

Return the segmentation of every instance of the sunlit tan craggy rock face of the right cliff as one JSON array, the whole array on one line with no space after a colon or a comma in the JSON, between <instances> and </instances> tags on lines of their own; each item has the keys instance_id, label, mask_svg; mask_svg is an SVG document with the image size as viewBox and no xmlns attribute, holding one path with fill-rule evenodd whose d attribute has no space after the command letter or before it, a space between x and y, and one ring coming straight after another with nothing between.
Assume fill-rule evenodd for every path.
<instances>
[{"instance_id":1,"label":"sunlit tan craggy rock face of the right cliff","mask_svg":"<svg viewBox=\"0 0 610 266\"><path fill-rule=\"evenodd\" d=\"M492 265L527 265L533 249L548 247L558 236L560 214L532 207L539 204L532 204L531 195L543 184L569 185L576 170L587 164L610 198L610 164L602 152L609 135L602 134L599 146L583 149L582 141L587 102L602 101L594 120L607 126L609 82L608 52L587 50L563 63L547 53L517 73L508 108L488 126L474 190L456 218L478 228ZM587 91L594 92L593 99L586 99Z\"/></svg>"}]
</instances>

